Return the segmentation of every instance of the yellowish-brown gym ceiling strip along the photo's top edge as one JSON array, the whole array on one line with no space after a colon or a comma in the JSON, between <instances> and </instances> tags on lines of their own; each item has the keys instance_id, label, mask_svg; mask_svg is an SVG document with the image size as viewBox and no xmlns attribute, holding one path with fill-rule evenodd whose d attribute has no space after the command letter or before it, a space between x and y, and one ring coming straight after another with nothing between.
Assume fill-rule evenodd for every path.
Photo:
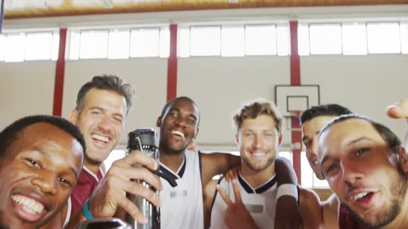
<instances>
[{"instance_id":1,"label":"yellowish-brown gym ceiling strip along the photo's top edge","mask_svg":"<svg viewBox=\"0 0 408 229\"><path fill-rule=\"evenodd\" d=\"M1 1L1 0L0 0ZM408 0L3 0L6 19L84 14L408 4Z\"/></svg>"}]
</instances>

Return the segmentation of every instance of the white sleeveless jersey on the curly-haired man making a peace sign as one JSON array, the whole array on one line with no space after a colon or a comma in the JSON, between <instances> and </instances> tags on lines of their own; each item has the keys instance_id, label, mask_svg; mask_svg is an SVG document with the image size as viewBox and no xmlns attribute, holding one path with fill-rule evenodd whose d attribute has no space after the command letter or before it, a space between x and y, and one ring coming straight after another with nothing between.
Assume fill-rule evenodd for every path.
<instances>
[{"instance_id":1,"label":"white sleeveless jersey on the curly-haired man making a peace sign","mask_svg":"<svg viewBox=\"0 0 408 229\"><path fill-rule=\"evenodd\" d=\"M277 195L277 177L273 176L271 179L263 183L263 185L252 188L250 184L245 181L241 174L238 174L239 190L241 192L241 199L245 204L245 208L250 212L252 219L254 219L258 228L274 228L275 225L275 209L276 209L276 195ZM228 193L232 202L235 201L234 189L232 183L221 179L219 185ZM212 229L227 229L225 225L225 210L227 204L218 191L215 191L214 200L211 208L211 226Z\"/></svg>"}]
</instances>

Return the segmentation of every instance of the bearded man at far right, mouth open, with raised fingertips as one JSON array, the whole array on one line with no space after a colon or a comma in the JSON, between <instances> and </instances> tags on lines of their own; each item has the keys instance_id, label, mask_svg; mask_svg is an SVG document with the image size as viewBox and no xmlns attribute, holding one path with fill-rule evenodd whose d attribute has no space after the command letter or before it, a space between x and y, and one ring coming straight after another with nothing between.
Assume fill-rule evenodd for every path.
<instances>
[{"instance_id":1,"label":"bearded man at far right, mouth open, with raised fingertips","mask_svg":"<svg viewBox=\"0 0 408 229\"><path fill-rule=\"evenodd\" d=\"M408 117L408 100L388 113ZM331 189L364 226L408 227L408 156L389 128L361 115L342 115L320 132L318 152Z\"/></svg>"}]
</instances>

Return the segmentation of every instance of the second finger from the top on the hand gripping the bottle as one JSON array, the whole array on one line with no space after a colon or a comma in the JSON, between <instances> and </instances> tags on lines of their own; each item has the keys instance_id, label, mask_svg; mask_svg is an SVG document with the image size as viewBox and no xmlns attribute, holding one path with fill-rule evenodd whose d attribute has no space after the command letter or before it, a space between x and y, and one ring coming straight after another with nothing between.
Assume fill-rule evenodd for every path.
<instances>
[{"instance_id":1,"label":"second finger from the top on the hand gripping the bottle","mask_svg":"<svg viewBox=\"0 0 408 229\"><path fill-rule=\"evenodd\" d=\"M133 168L130 166L122 167L116 165L109 169L106 176L120 177L125 181L130 181L131 179L142 180L149 183L149 185L154 186L154 188L156 188L157 190L163 189L160 179L152 172L147 170L147 168Z\"/></svg>"}]
</instances>

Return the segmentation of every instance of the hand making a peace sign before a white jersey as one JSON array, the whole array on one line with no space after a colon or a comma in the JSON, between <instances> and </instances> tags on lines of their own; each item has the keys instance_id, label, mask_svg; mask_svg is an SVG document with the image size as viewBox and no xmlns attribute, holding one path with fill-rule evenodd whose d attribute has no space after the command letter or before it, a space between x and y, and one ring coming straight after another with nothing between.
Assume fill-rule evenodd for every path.
<instances>
[{"instance_id":1,"label":"hand making a peace sign before a white jersey","mask_svg":"<svg viewBox=\"0 0 408 229\"><path fill-rule=\"evenodd\" d=\"M245 208L245 205L241 199L241 193L239 192L239 185L237 178L232 179L232 188L234 189L234 197L235 202L233 203L228 197L227 192L221 186L217 185L216 190L218 190L219 194L227 204L228 208L225 210L225 224L228 228L234 229L255 229L257 226L255 225L254 219L252 219L250 212Z\"/></svg>"}]
</instances>

